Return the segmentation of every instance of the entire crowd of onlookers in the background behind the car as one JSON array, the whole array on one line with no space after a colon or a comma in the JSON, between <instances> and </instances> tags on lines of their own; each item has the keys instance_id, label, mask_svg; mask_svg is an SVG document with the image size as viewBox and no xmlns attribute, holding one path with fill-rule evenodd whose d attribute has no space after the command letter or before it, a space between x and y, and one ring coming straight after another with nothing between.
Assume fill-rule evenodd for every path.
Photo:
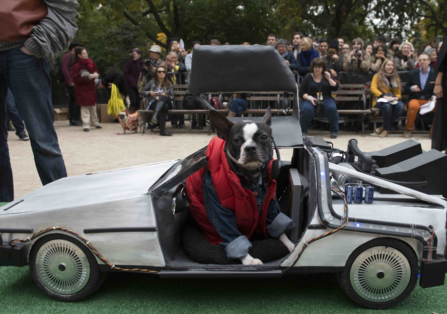
<instances>
[{"instance_id":1,"label":"entire crowd of onlookers in the background behind the car","mask_svg":"<svg viewBox=\"0 0 447 314\"><path fill-rule=\"evenodd\" d=\"M224 45L228 44L225 43ZM339 117L331 92L338 89L339 82L349 83L343 81L346 79L346 73L357 75L356 81L358 82L363 83L362 80L365 82L372 81L373 107L381 109L384 119L383 126L378 127L375 131L379 136L385 137L392 123L404 109L400 94L401 79L399 74L404 71L407 73L406 79L414 80L417 73L409 73L409 71L415 69L419 71L420 69L424 73L430 73L436 66L442 46L442 43L436 47L425 45L422 50L417 50L408 41L402 42L399 38L388 41L382 35L378 36L373 43L365 43L362 38L355 38L351 42L342 37L332 40L326 38L315 40L304 36L301 32L295 32L290 42L284 38L277 38L275 34L269 34L265 44L278 51L284 62L296 73L297 79L301 83L299 96L302 99L300 102L302 132L304 134L307 132L307 126L315 112L321 110L329 120L332 138L337 136ZM165 127L165 114L170 109L182 109L180 102L173 101L172 87L187 83L188 73L192 68L194 47L199 45L202 45L202 43L194 41L188 50L182 40L172 40L168 43L165 51L157 45L151 45L147 53L149 58L146 60L143 60L143 53L140 49L133 49L132 58L127 61L123 71L126 82L124 88L123 75L119 73L107 74L109 80L106 82L103 78L99 87L98 84L93 84L93 80L97 78L97 76L94 76L96 75L94 69L91 73L94 77L82 77L82 82L80 77L76 77L77 73L75 73L74 78L73 75L71 78L68 77L65 79L65 84L71 95L71 125L79 125L79 116L81 116L84 130L89 129L90 124L97 127L93 110L89 111L91 113L91 117L89 117L87 115L88 101L76 96L75 90L81 87L74 87L73 81L78 81L79 86L90 86L91 91L94 90L94 87L91 86L110 88L111 83L115 81L120 84L119 89L122 97L128 96L128 107L131 113L140 109L141 97L143 97L145 99L145 109L153 109L156 112L149 125L151 127L158 126L160 135L171 135ZM220 46L221 43L217 39L212 39L208 45ZM242 45L250 45L250 43L244 42ZM76 60L80 58L80 63L85 63L81 56L76 57L77 49L83 49L83 47L80 47L79 43L73 43L70 48L72 49L71 52L63 59L64 75L65 72L71 71L69 67L74 63L73 58ZM77 62L79 63L79 61ZM344 73L345 76L341 73ZM433 75L431 74L431 76ZM431 81L433 81L432 78ZM414 97L411 98L413 100L411 106L409 105L412 109L409 110L411 117L409 116L405 137L411 136L409 128L414 125L414 112L417 113L419 107L428 101L428 98L430 98L428 93L433 94L433 86L427 84L427 87L431 89L420 95L423 101L419 99L416 102L415 99L418 96L415 96L414 93L421 93L424 87L426 87L425 84L419 87L420 90L418 90L418 87L412 87L408 91L413 93ZM83 93L85 94L85 91ZM377 101L378 99L380 101ZM75 109L72 110L76 101L80 108L83 108L81 110L83 114L78 113ZM228 107L229 116L240 116L241 112L246 110L247 107L248 102L244 94L233 95L232 104ZM89 120L89 122L86 120ZM171 128L186 128L183 115L171 115L170 120ZM200 127L202 128L202 126Z\"/></svg>"}]
</instances>

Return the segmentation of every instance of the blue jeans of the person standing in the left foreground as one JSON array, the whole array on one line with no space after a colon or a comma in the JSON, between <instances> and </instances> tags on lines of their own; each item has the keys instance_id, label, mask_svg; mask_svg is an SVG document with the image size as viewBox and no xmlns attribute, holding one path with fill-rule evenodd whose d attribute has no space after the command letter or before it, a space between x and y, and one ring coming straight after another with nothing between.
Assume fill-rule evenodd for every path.
<instances>
[{"instance_id":1,"label":"blue jeans of the person standing in the left foreground","mask_svg":"<svg viewBox=\"0 0 447 314\"><path fill-rule=\"evenodd\" d=\"M23 53L19 47L0 52L0 201L14 199L6 132L5 99L9 88L27 127L34 162L43 185L67 177L53 126L51 78L45 59Z\"/></svg>"}]
</instances>

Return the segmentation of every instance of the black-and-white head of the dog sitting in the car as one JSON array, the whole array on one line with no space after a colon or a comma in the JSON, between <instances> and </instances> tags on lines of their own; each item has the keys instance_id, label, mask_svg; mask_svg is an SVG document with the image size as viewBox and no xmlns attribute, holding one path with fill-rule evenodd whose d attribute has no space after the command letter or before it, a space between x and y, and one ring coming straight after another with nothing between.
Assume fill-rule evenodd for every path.
<instances>
[{"instance_id":1,"label":"black-and-white head of the dog sitting in the car","mask_svg":"<svg viewBox=\"0 0 447 314\"><path fill-rule=\"evenodd\" d=\"M261 167L272 151L272 111L270 107L261 122L240 121L232 123L217 111L210 111L210 120L217 135L225 140L227 155L247 170Z\"/></svg>"}]
</instances>

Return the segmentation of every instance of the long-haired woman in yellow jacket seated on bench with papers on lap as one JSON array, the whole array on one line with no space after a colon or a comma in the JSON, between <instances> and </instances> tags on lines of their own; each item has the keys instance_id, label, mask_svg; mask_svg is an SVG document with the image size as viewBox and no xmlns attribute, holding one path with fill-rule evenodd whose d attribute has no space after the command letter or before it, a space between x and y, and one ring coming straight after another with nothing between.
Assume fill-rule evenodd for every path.
<instances>
[{"instance_id":1,"label":"long-haired woman in yellow jacket seated on bench with papers on lap","mask_svg":"<svg viewBox=\"0 0 447 314\"><path fill-rule=\"evenodd\" d=\"M400 78L392 60L385 60L371 82L373 93L373 107L383 112L383 126L377 127L375 132L380 137L386 137L390 126L396 121L404 109Z\"/></svg>"}]
</instances>

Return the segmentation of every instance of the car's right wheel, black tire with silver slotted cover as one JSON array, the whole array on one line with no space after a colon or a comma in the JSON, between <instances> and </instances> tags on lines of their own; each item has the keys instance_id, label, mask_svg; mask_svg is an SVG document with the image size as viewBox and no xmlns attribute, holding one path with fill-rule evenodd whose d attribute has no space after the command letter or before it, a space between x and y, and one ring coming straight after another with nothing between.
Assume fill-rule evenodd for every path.
<instances>
[{"instance_id":1,"label":"car's right wheel, black tire with silver slotted cover","mask_svg":"<svg viewBox=\"0 0 447 314\"><path fill-rule=\"evenodd\" d=\"M379 310L404 300L413 291L418 273L418 258L411 247L383 238L357 248L337 278L354 302Z\"/></svg>"}]
</instances>

